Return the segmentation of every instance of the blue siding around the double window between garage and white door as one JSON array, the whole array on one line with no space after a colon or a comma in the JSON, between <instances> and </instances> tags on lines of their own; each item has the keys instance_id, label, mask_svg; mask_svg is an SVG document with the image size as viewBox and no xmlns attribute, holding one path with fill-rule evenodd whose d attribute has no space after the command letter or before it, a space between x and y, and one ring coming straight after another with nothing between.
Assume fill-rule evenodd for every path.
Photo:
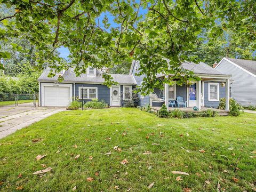
<instances>
[{"instance_id":1,"label":"blue siding around the double window between garage and white door","mask_svg":"<svg viewBox=\"0 0 256 192\"><path fill-rule=\"evenodd\" d=\"M98 100L104 100L108 105L110 105L110 89L106 85L98 85L98 84L84 84L84 83L76 83L76 97L78 97L79 87L97 87L98 88ZM122 91L122 89L121 89ZM91 99L84 100L85 102L91 101Z\"/></svg>"}]
</instances>

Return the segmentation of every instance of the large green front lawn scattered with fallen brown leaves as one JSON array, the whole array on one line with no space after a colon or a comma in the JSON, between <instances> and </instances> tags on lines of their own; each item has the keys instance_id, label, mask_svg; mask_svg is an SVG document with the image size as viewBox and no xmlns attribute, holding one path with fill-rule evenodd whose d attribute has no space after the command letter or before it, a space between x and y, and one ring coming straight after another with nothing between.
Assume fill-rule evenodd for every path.
<instances>
[{"instance_id":1,"label":"large green front lawn scattered with fallen brown leaves","mask_svg":"<svg viewBox=\"0 0 256 192\"><path fill-rule=\"evenodd\" d=\"M217 191L219 182L222 190L253 191L255 138L255 114L161 119L133 108L64 111L0 140L0 190L147 191L155 182L151 191ZM47 156L36 161L39 154Z\"/></svg>"}]
</instances>

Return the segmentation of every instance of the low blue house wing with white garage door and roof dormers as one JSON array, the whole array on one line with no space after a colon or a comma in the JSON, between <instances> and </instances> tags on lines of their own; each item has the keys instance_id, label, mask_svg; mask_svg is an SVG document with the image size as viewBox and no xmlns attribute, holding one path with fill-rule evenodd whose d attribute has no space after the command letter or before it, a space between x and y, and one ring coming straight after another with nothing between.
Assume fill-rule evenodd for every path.
<instances>
[{"instance_id":1,"label":"low blue house wing with white garage door and roof dormers","mask_svg":"<svg viewBox=\"0 0 256 192\"><path fill-rule=\"evenodd\" d=\"M54 77L48 77L49 72L50 69L45 69L38 78L40 106L67 107L74 98L82 97L85 102L98 99L109 106L121 106L124 101L132 99L136 85L133 75L110 74L118 85L109 88L103 85L102 72L92 67L88 67L81 76L76 76L74 68L63 70ZM61 83L58 82L59 75L63 77Z\"/></svg>"}]
</instances>

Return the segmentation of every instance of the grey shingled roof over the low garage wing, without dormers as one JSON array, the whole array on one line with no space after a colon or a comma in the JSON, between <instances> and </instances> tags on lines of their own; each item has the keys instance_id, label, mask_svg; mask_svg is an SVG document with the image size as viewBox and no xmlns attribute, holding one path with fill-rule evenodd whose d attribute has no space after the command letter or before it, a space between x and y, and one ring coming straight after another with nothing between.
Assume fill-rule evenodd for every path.
<instances>
[{"instance_id":1,"label":"grey shingled roof over the low garage wing, without dormers","mask_svg":"<svg viewBox=\"0 0 256 192\"><path fill-rule=\"evenodd\" d=\"M38 78L38 81L58 81L58 75L54 77L48 77L50 69L45 69L41 76ZM123 75L123 74L110 74L113 77L113 81L117 82L120 85L136 85L136 81L133 75ZM97 73L97 76L87 76L86 74L81 74L80 76L76 76L74 68L69 68L62 75L64 80L63 82L77 82L77 83L94 83L94 84L102 84L105 82L105 79L101 76L101 74Z\"/></svg>"}]
</instances>

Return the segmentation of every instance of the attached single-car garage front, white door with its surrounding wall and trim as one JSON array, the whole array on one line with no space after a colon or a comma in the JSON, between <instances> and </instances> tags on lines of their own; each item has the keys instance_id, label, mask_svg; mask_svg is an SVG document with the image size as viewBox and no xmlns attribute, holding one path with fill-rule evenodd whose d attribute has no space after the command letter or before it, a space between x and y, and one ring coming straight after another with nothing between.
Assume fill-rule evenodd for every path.
<instances>
[{"instance_id":1,"label":"attached single-car garage front, white door with its surrounding wall and trim","mask_svg":"<svg viewBox=\"0 0 256 192\"><path fill-rule=\"evenodd\" d=\"M71 84L42 83L42 106L67 107L72 98Z\"/></svg>"}]
</instances>

